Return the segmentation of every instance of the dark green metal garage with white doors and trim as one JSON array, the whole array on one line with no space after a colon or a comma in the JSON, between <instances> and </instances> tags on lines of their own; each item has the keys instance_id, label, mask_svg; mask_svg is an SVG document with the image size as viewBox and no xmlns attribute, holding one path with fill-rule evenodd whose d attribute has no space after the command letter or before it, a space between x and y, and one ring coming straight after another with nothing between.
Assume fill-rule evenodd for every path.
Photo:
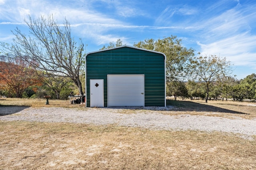
<instances>
[{"instance_id":1,"label":"dark green metal garage with white doors and trim","mask_svg":"<svg viewBox=\"0 0 256 170\"><path fill-rule=\"evenodd\" d=\"M86 55L86 106L166 106L164 53L127 45Z\"/></svg>"}]
</instances>

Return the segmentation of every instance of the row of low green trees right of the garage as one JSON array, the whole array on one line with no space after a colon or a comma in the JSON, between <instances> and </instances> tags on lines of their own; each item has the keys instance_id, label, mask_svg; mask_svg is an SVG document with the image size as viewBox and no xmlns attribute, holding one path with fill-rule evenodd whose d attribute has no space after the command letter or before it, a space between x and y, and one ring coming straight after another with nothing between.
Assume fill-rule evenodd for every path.
<instances>
[{"instance_id":1,"label":"row of low green trees right of the garage","mask_svg":"<svg viewBox=\"0 0 256 170\"><path fill-rule=\"evenodd\" d=\"M206 84L189 80L187 82L168 82L167 96L177 98L190 98L190 100L206 100ZM246 76L241 80L234 77L226 76L214 81L210 86L208 100L234 100L242 102L243 100L256 100L256 74Z\"/></svg>"}]
</instances>

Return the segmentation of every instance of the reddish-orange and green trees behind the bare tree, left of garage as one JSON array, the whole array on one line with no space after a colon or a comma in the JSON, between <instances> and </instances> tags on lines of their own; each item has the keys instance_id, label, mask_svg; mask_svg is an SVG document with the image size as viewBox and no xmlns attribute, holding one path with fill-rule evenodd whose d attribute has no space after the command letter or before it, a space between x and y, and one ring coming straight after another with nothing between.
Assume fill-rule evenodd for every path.
<instances>
[{"instance_id":1,"label":"reddish-orange and green trees behind the bare tree, left of garage","mask_svg":"<svg viewBox=\"0 0 256 170\"><path fill-rule=\"evenodd\" d=\"M84 88L84 87L83 87ZM67 77L38 74L19 57L0 56L0 96L8 98L43 98L66 100L75 85Z\"/></svg>"}]
</instances>

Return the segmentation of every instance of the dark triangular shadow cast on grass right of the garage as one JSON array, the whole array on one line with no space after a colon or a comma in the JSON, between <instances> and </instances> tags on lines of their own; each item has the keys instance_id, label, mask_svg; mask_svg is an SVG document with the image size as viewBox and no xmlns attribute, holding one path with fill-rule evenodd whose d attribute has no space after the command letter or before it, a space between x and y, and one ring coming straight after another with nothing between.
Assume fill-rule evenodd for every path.
<instances>
[{"instance_id":1,"label":"dark triangular shadow cast on grass right of the garage","mask_svg":"<svg viewBox=\"0 0 256 170\"><path fill-rule=\"evenodd\" d=\"M239 111L234 111L230 109L224 109L221 107L216 106L210 106L206 104L199 104L196 102L190 102L190 101L175 101L175 100L166 100L166 104L168 106L174 106L177 109L177 111L211 111L211 112L221 112L221 113L235 113L235 114L246 114Z\"/></svg>"}]
</instances>

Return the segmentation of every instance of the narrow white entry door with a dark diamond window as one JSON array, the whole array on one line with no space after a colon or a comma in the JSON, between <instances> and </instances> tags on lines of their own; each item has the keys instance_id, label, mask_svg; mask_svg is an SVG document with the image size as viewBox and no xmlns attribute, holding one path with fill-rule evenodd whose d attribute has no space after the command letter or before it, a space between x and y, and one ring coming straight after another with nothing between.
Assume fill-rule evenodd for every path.
<instances>
[{"instance_id":1,"label":"narrow white entry door with a dark diamond window","mask_svg":"<svg viewBox=\"0 0 256 170\"><path fill-rule=\"evenodd\" d=\"M90 107L104 107L103 79L90 79Z\"/></svg>"}]
</instances>

